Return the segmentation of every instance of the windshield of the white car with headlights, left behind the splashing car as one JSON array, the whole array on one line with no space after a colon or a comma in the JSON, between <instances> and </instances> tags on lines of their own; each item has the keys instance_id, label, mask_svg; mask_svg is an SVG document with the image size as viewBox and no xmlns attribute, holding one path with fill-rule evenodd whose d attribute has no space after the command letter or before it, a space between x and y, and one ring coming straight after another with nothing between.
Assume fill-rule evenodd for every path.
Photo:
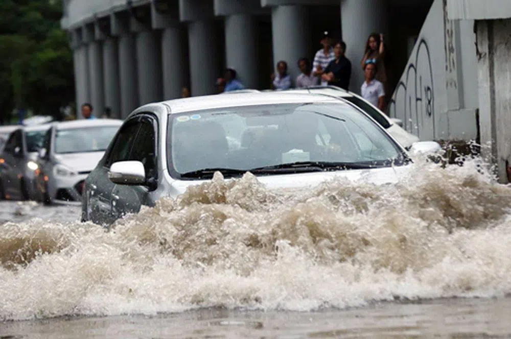
<instances>
[{"instance_id":1,"label":"windshield of the white car with headlights, left behind the splashing car","mask_svg":"<svg viewBox=\"0 0 511 339\"><path fill-rule=\"evenodd\" d=\"M118 129L118 126L95 126L57 130L55 153L105 151Z\"/></svg>"}]
</instances>

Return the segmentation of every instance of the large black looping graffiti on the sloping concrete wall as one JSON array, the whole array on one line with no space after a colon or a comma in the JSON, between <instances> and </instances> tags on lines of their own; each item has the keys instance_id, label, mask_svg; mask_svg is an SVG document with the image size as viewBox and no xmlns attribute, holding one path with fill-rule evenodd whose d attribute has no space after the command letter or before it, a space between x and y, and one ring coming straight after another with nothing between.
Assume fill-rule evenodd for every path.
<instances>
[{"instance_id":1,"label":"large black looping graffiti on the sloping concrete wall","mask_svg":"<svg viewBox=\"0 0 511 339\"><path fill-rule=\"evenodd\" d=\"M435 93L428 43L417 42L389 105L390 116L403 120L403 127L421 139L435 136Z\"/></svg>"}]
</instances>

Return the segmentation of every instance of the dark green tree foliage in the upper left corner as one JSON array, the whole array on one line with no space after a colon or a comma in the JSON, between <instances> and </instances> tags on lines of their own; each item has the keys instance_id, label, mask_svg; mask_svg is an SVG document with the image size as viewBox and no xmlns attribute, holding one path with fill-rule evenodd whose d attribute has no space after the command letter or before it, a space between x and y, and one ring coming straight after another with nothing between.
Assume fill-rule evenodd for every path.
<instances>
[{"instance_id":1,"label":"dark green tree foliage in the upper left corner","mask_svg":"<svg viewBox=\"0 0 511 339\"><path fill-rule=\"evenodd\" d=\"M73 55L61 0L0 0L0 114L57 116L73 101Z\"/></svg>"}]
</instances>

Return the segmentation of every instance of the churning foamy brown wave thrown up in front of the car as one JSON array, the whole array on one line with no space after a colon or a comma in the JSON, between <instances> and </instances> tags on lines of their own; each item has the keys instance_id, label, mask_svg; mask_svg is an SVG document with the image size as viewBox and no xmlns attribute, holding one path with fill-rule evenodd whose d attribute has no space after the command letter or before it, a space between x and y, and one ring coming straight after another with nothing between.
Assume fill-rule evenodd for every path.
<instances>
[{"instance_id":1,"label":"churning foamy brown wave thrown up in front of the car","mask_svg":"<svg viewBox=\"0 0 511 339\"><path fill-rule=\"evenodd\" d=\"M396 185L272 191L221 176L115 223L0 227L0 319L315 310L511 293L511 188L476 161Z\"/></svg>"}]
</instances>

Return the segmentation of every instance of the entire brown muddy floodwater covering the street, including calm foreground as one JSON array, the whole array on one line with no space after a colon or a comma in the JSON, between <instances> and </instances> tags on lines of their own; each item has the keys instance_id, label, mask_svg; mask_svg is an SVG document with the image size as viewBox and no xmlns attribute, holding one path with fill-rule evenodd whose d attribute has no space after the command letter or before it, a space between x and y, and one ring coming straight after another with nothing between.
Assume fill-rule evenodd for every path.
<instances>
[{"instance_id":1,"label":"entire brown muddy floodwater covering the street, including calm foreground","mask_svg":"<svg viewBox=\"0 0 511 339\"><path fill-rule=\"evenodd\" d=\"M511 337L511 187L474 160L79 212L0 202L0 338Z\"/></svg>"}]
</instances>

